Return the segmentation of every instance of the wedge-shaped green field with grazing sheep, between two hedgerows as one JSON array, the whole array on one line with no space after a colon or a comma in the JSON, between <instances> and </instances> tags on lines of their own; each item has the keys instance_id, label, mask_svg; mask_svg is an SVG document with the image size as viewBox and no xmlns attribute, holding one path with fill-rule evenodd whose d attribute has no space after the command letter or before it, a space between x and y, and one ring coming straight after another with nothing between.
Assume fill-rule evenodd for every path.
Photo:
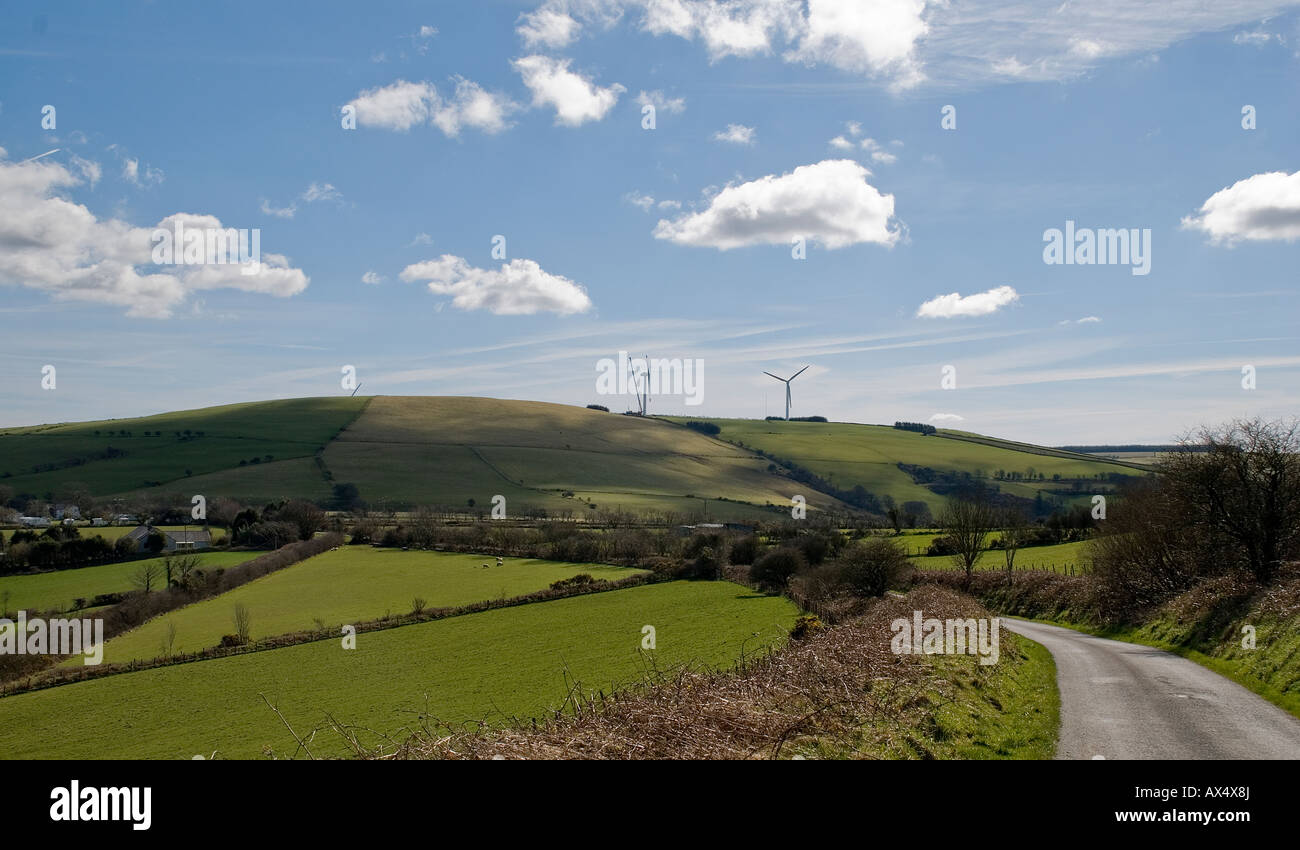
<instances>
[{"instance_id":1,"label":"wedge-shaped green field with grazing sheep, between two hedgerows","mask_svg":"<svg viewBox=\"0 0 1300 850\"><path fill-rule=\"evenodd\" d=\"M482 569L485 563L493 567ZM162 655L169 624L176 626L176 652L216 646L221 636L235 632L237 604L248 610L250 636L257 639L317 628L317 620L337 630L344 623L410 613L415 597L430 608L454 607L519 597L578 573L616 580L641 572L519 558L507 558L503 567L495 564L497 559L486 555L344 546L151 620L109 641L104 660Z\"/></svg>"}]
</instances>

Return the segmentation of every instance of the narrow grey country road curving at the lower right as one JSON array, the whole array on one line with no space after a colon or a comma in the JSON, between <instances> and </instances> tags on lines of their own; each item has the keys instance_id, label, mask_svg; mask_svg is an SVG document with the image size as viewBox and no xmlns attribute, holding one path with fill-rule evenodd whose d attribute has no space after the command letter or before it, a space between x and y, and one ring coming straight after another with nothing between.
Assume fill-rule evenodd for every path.
<instances>
[{"instance_id":1,"label":"narrow grey country road curving at the lower right","mask_svg":"<svg viewBox=\"0 0 1300 850\"><path fill-rule=\"evenodd\" d=\"M1056 659L1058 759L1300 759L1300 720L1195 662L1056 625L1002 625Z\"/></svg>"}]
</instances>

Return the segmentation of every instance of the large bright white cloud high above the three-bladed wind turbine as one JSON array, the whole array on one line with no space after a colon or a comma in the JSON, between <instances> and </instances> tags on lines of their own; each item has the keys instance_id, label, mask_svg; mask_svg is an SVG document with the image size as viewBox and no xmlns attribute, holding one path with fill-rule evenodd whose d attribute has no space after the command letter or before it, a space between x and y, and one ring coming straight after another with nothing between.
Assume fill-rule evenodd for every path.
<instances>
[{"instance_id":1,"label":"large bright white cloud high above the three-bladed wind turbine","mask_svg":"<svg viewBox=\"0 0 1300 850\"><path fill-rule=\"evenodd\" d=\"M662 220L656 239L679 244L738 248L790 244L805 238L827 248L875 242L893 244L893 195L867 182L866 168L852 160L801 165L789 174L768 174L718 192L703 212Z\"/></svg>"}]
</instances>

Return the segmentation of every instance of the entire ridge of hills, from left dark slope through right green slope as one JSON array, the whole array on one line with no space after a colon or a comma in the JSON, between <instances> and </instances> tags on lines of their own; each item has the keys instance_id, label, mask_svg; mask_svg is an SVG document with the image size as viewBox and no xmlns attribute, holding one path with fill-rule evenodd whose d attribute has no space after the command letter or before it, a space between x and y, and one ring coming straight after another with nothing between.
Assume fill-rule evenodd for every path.
<instances>
[{"instance_id":1,"label":"entire ridge of hills, from left dark slope through right green slope","mask_svg":"<svg viewBox=\"0 0 1300 850\"><path fill-rule=\"evenodd\" d=\"M354 483L372 506L478 508L504 495L528 508L771 515L803 495L855 486L937 511L963 476L1023 499L1086 500L1131 464L996 438L923 437L880 425L710 420L715 437L680 420L566 404L463 396L312 398L157 416L0 430L0 491L46 500L191 494L243 502L324 502ZM755 452L759 450L767 456ZM774 465L772 459L776 459ZM800 482L780 464L824 483ZM845 496L846 498L846 496Z\"/></svg>"}]
</instances>

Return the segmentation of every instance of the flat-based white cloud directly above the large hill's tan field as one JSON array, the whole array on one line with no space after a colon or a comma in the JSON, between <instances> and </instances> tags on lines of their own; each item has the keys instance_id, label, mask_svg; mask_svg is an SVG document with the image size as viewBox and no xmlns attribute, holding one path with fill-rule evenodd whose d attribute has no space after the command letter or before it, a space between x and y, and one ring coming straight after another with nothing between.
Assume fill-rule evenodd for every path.
<instances>
[{"instance_id":1,"label":"flat-based white cloud directly above the large hill's tan field","mask_svg":"<svg viewBox=\"0 0 1300 850\"><path fill-rule=\"evenodd\" d=\"M451 295L460 309L486 309L498 316L533 313L585 313L592 309L586 290L558 274L549 274L533 260L511 260L500 269L480 269L464 257L445 253L437 260L402 269L403 281L429 281L429 291Z\"/></svg>"}]
</instances>

